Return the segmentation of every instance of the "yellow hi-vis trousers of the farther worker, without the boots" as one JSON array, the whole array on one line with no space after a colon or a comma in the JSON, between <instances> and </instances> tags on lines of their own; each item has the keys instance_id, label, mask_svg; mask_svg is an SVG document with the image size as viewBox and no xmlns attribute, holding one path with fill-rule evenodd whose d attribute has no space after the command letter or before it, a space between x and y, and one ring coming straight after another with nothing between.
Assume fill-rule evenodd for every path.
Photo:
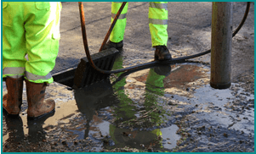
<instances>
[{"instance_id":1,"label":"yellow hi-vis trousers of the farther worker, without the boots","mask_svg":"<svg viewBox=\"0 0 256 154\"><path fill-rule=\"evenodd\" d=\"M115 18L122 2L111 3L111 22ZM168 41L168 3L150 2L149 3L149 26L151 31L152 47L167 46ZM126 14L128 12L128 3L122 9L122 13L117 19L117 23L111 32L110 41L119 42L123 40L126 27Z\"/></svg>"}]
</instances>

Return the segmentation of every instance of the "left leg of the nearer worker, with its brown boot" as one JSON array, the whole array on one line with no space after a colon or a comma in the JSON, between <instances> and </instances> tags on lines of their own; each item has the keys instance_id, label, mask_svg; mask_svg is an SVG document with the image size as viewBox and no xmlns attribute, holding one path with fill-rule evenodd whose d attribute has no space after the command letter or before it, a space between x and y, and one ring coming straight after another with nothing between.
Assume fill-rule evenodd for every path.
<instances>
[{"instance_id":1,"label":"left leg of the nearer worker, with its brown boot","mask_svg":"<svg viewBox=\"0 0 256 154\"><path fill-rule=\"evenodd\" d=\"M8 93L3 109L18 115L22 103L23 75L26 63L26 37L20 3L3 2L3 80Z\"/></svg>"}]
</instances>

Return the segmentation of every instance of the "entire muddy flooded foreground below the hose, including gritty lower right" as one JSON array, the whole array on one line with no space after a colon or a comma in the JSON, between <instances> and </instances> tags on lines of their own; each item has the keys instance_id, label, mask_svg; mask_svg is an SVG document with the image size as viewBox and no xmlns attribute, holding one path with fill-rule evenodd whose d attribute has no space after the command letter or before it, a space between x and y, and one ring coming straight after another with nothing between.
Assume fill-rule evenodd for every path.
<instances>
[{"instance_id":1,"label":"entire muddy flooded foreground below the hose, including gritty lower right","mask_svg":"<svg viewBox=\"0 0 256 154\"><path fill-rule=\"evenodd\" d=\"M53 83L55 112L37 121L26 119L24 89L20 117L3 116L3 151L254 151L254 95L238 84L214 90L209 75L181 63L77 91Z\"/></svg>"}]
</instances>

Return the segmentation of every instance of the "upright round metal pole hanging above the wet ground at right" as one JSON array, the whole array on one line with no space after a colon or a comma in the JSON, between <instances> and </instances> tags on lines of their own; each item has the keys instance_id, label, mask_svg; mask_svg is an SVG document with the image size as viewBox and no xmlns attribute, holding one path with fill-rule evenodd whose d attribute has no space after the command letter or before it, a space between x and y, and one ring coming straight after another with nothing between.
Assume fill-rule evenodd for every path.
<instances>
[{"instance_id":1,"label":"upright round metal pole hanging above the wet ground at right","mask_svg":"<svg viewBox=\"0 0 256 154\"><path fill-rule=\"evenodd\" d=\"M211 80L215 89L230 87L233 3L213 2Z\"/></svg>"}]
</instances>

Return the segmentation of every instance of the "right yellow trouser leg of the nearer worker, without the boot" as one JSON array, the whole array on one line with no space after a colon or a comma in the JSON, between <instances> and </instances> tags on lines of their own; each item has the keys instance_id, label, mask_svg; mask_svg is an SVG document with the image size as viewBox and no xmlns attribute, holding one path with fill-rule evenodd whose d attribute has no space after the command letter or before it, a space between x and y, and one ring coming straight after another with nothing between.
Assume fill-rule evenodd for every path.
<instances>
[{"instance_id":1,"label":"right yellow trouser leg of the nearer worker, without the boot","mask_svg":"<svg viewBox=\"0 0 256 154\"><path fill-rule=\"evenodd\" d=\"M54 69L59 52L60 3L29 3L26 14L26 80L34 83L52 83L50 71Z\"/></svg>"}]
</instances>

